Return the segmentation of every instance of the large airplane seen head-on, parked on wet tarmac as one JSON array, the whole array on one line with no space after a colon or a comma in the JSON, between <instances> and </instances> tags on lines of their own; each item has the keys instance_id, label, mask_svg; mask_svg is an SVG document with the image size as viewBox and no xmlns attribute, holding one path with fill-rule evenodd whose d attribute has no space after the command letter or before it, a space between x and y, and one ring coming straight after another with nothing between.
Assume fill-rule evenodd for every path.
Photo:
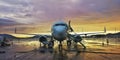
<instances>
[{"instance_id":1,"label":"large airplane seen head-on, parked on wet tarmac","mask_svg":"<svg viewBox=\"0 0 120 60\"><path fill-rule=\"evenodd\" d=\"M27 33L19 33L19 34L27 34L27 35L38 35L39 41L42 42L44 45L48 45L48 47L54 46L54 41L57 40L59 42L59 48L62 48L62 42L66 39L67 45L71 45L71 40L73 40L76 43L80 43L84 49L86 49L85 45L81 42L82 38L80 35L88 35L88 34L99 34L99 33L105 33L106 28L104 27L104 32L94 32L94 33L82 33L77 34L74 32L74 34L71 34L70 32L74 32L73 28L71 27L71 21L69 20L68 24L64 21L58 21L55 22L51 27L51 35L43 35L43 34L27 34ZM15 28L15 33L17 33L17 29ZM17 33L18 34L18 33ZM46 36L50 36L51 39L48 42ZM73 39L71 38L73 37Z\"/></svg>"}]
</instances>

